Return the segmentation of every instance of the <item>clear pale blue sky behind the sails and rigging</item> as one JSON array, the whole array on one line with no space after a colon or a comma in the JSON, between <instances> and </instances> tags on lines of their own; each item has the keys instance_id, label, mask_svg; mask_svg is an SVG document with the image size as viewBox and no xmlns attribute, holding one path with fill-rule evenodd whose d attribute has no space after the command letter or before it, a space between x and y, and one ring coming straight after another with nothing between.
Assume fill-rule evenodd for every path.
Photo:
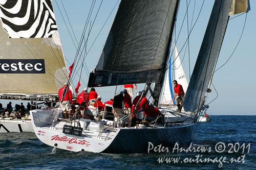
<instances>
[{"instance_id":1,"label":"clear pale blue sky behind the sails and rigging","mask_svg":"<svg viewBox=\"0 0 256 170\"><path fill-rule=\"evenodd\" d=\"M86 56L85 63L88 67L89 72L91 69L94 69L98 57L102 51L102 47L106 37L108 36L111 23L115 16L116 10L118 5L114 8L115 4L119 1L117 0L103 0L101 7L99 9L98 15L94 22L94 16L98 10L101 1L96 1L94 6L94 12L90 19L90 24L92 27L92 31L90 33L88 39L87 49L91 47L88 55ZM188 1L189 2L189 1ZM190 1L189 8L188 8L188 28L191 28L191 20L194 25L196 18L199 14L200 8L202 6L203 1L196 1L195 4L195 11L193 15L194 9L194 0ZM92 1L89 0L76 0L76 1L55 1L52 0L54 13L57 21L57 28L59 31L63 54L66 58L67 67L69 67L74 60L76 55L76 46L71 39L70 32L72 33L71 27L69 23L71 23L73 32L76 36L77 41L79 42L84 25L87 20L87 16L92 4ZM63 8L63 6L65 9ZM202 43L202 39L205 33L205 29L207 26L207 22L210 16L210 12L214 1L205 1L203 4L202 11L197 19L196 25L191 31L189 37L189 60L190 60L190 71L189 71L189 62L188 62L188 52L186 52L184 56L184 49L180 52L184 40L187 38L187 20L185 19L183 28L181 29L181 34L176 42L177 50L180 52L180 58L182 60L184 56L184 60L182 62L183 69L185 71L187 80L189 81L189 72L193 72L193 68L197 59L197 55L199 53L199 49ZM207 110L207 114L212 115L256 115L255 109L253 106L256 104L256 100L254 96L256 94L254 88L256 76L254 75L256 72L256 67L254 63L256 63L255 57L255 40L256 34L254 32L255 28L255 17L256 12L254 11L254 7L256 6L255 1L250 1L251 11L247 14L246 23L242 38L239 42L238 47L236 45L240 39L242 34L242 30L244 27L245 17L246 14L233 18L231 16L227 26L225 38L222 44L219 60L217 62L216 68L219 68L223 65L230 55L232 54L234 48L233 55L231 56L230 60L217 72L214 74L214 78L212 83L216 88L217 92L214 90L214 87L211 86L212 92L208 94L207 102L211 102L209 105L209 109ZM114 10L113 10L114 9ZM178 16L177 16L177 26L176 26L176 37L173 39L177 39L178 32L182 25L182 20L185 15L186 9L186 1L181 1ZM111 11L113 12L111 13ZM68 15L68 18L66 16ZM106 21L108 16L110 15L109 19ZM193 17L192 17L193 16ZM237 15L235 15L237 16ZM62 18L64 17L64 19ZM186 17L185 17L186 18ZM105 26L103 27L102 31L100 32L98 38L93 44L96 36L98 35L100 29L103 26L103 23L106 21ZM68 25L68 28L67 26ZM74 36L71 34L73 39ZM93 44L93 45L92 45ZM76 85L78 82L78 78L74 80L74 84ZM87 87L88 83L88 74L86 71L82 72L82 81L80 81L81 87L79 92L84 87ZM138 92L143 90L144 84L138 85ZM99 95L102 96L102 101L106 102L110 98L114 97L114 92L116 87L108 87L108 88L96 88L96 91ZM118 86L117 91L123 90L123 86ZM218 94L217 94L218 93ZM214 100L218 95L218 98ZM135 96L135 94L134 94ZM214 101L213 101L214 100ZM3 106L5 107L9 101L1 101ZM15 104L16 102L12 102ZM17 101L20 104L20 101ZM13 105L14 106L14 105Z\"/></svg>"}]
</instances>

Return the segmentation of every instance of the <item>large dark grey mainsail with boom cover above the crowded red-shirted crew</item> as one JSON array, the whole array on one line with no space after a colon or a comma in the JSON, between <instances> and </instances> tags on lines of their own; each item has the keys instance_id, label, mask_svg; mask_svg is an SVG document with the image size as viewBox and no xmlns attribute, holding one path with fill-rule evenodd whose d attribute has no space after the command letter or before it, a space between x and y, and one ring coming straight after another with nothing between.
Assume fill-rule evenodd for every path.
<instances>
[{"instance_id":1,"label":"large dark grey mainsail with boom cover above the crowded red-shirted crew","mask_svg":"<svg viewBox=\"0 0 256 170\"><path fill-rule=\"evenodd\" d=\"M164 68L176 6L177 0L121 1L89 87L127 84L127 80L104 82L109 75L103 76L101 85L95 84L106 72L121 77L143 72L151 79L135 79L135 83L158 82L160 76L155 73Z\"/></svg>"}]
</instances>

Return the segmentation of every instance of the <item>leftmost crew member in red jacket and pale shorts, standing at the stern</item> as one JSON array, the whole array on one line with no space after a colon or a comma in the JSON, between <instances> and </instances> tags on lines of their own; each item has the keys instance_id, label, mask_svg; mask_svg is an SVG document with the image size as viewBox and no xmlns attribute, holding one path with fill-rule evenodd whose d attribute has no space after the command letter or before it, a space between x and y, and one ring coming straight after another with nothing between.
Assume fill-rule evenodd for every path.
<instances>
[{"instance_id":1,"label":"leftmost crew member in red jacket and pale shorts, standing at the stern","mask_svg":"<svg viewBox=\"0 0 256 170\"><path fill-rule=\"evenodd\" d=\"M61 102L62 94L65 92L65 96ZM65 118L70 117L70 113L72 112L71 103L72 103L72 92L69 89L69 86L67 86L67 83L63 87L59 89L59 102L60 102L60 108L63 111L63 115ZM67 115L67 111L69 115Z\"/></svg>"}]
</instances>

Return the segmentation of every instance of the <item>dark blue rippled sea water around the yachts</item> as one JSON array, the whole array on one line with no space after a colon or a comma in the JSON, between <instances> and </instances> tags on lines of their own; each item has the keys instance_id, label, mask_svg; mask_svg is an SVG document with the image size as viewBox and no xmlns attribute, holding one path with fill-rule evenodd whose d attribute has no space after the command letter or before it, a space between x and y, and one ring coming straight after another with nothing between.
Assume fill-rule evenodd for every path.
<instances>
[{"instance_id":1,"label":"dark blue rippled sea water around the yachts","mask_svg":"<svg viewBox=\"0 0 256 170\"><path fill-rule=\"evenodd\" d=\"M256 169L256 116L212 115L199 124L192 143L181 153L177 145L167 153L74 153L54 150L34 133L1 133L0 169Z\"/></svg>"}]
</instances>

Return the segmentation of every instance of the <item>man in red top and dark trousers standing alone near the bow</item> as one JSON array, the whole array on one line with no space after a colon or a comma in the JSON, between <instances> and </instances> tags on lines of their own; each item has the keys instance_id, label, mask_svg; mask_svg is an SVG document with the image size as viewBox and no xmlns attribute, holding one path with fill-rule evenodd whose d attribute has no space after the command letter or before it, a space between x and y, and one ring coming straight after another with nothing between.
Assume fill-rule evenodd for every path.
<instances>
[{"instance_id":1,"label":"man in red top and dark trousers standing alone near the bow","mask_svg":"<svg viewBox=\"0 0 256 170\"><path fill-rule=\"evenodd\" d=\"M178 84L178 82L176 80L174 80L173 83L174 83L174 99L173 99L173 101L176 99L176 96L177 96L177 99L176 99L177 106L178 106L177 111L181 112L181 109L183 107L185 92L182 88L182 85Z\"/></svg>"}]
</instances>

